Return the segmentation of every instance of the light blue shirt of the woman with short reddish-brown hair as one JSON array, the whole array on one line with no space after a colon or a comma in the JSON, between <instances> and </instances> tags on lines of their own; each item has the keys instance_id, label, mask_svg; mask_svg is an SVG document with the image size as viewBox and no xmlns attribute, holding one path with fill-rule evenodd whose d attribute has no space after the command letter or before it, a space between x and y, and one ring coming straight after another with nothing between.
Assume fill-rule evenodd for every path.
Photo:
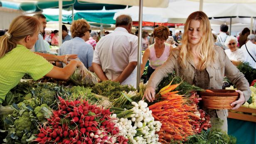
<instances>
[{"instance_id":1,"label":"light blue shirt of the woman with short reddish-brown hair","mask_svg":"<svg viewBox=\"0 0 256 144\"><path fill-rule=\"evenodd\" d=\"M75 37L69 41L65 41L59 48L58 56L66 54L77 54L78 58L88 69L92 64L94 57L94 49L90 44L87 44L84 39Z\"/></svg>"}]
</instances>

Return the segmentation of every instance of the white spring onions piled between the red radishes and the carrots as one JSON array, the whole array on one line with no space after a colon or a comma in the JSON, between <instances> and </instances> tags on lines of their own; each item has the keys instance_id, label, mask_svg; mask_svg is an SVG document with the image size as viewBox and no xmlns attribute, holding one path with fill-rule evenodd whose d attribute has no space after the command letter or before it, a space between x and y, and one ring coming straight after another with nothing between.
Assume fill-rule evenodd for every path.
<instances>
[{"instance_id":1,"label":"white spring onions piled between the red radishes and the carrots","mask_svg":"<svg viewBox=\"0 0 256 144\"><path fill-rule=\"evenodd\" d=\"M161 123L155 121L152 111L149 110L148 104L143 100L138 103L132 102L134 106L130 110L112 107L114 110L113 117L117 117L116 126L119 128L119 134L127 137L132 144L160 144L158 134Z\"/></svg>"}]
</instances>

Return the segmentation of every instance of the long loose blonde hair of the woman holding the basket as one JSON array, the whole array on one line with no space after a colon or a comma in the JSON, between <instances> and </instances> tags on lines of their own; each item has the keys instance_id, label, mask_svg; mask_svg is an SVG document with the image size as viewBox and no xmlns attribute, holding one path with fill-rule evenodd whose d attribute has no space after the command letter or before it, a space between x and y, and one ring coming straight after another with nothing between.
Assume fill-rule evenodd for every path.
<instances>
[{"instance_id":1,"label":"long loose blonde hair of the woman holding the basket","mask_svg":"<svg viewBox=\"0 0 256 144\"><path fill-rule=\"evenodd\" d=\"M216 56L211 25L207 15L204 12L193 12L187 18L182 37L182 46L180 46L180 56L178 57L178 62L182 68L185 68L188 66L188 61L193 61L192 50L188 41L188 29L191 20L198 20L200 22L200 32L202 32L202 38L199 41L196 51L197 54L199 54L198 68L200 71L202 71L207 66L214 63L214 58Z\"/></svg>"}]
</instances>

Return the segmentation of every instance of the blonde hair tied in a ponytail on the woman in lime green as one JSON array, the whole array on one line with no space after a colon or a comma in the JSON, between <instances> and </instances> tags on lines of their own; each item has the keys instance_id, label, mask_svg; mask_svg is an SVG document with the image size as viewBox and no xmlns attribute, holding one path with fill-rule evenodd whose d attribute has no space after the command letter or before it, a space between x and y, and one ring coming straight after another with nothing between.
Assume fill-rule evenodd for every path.
<instances>
[{"instance_id":1,"label":"blonde hair tied in a ponytail on the woman in lime green","mask_svg":"<svg viewBox=\"0 0 256 144\"><path fill-rule=\"evenodd\" d=\"M35 17L21 15L12 20L7 34L0 37L0 58L17 46L17 43L40 32L42 24ZM10 37L8 36L10 34Z\"/></svg>"}]
</instances>

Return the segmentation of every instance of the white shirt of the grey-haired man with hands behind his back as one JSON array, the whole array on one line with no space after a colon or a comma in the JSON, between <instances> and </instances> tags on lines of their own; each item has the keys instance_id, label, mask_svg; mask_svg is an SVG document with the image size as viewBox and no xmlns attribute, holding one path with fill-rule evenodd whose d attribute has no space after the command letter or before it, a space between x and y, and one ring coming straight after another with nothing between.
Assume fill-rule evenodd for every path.
<instances>
[{"instance_id":1,"label":"white shirt of the grey-haired man with hands behind his back","mask_svg":"<svg viewBox=\"0 0 256 144\"><path fill-rule=\"evenodd\" d=\"M93 62L101 65L108 79L115 80L128 63L137 61L137 58L138 37L123 27L116 27L113 33L102 37L96 44ZM136 88L136 74L137 67L121 84Z\"/></svg>"}]
</instances>

